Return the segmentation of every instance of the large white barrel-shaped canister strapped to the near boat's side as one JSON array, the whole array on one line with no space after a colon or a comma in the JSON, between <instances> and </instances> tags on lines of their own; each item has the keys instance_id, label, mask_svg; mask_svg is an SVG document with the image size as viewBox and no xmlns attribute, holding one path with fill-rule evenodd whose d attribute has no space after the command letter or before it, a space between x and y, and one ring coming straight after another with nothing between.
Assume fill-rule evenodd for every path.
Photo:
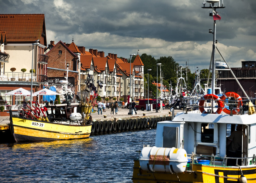
<instances>
[{"instance_id":1,"label":"large white barrel-shaped canister strapped to the near boat's side","mask_svg":"<svg viewBox=\"0 0 256 183\"><path fill-rule=\"evenodd\" d=\"M175 147L144 147L139 161L142 170L181 173L186 170L187 153L185 149Z\"/></svg>"}]
</instances>

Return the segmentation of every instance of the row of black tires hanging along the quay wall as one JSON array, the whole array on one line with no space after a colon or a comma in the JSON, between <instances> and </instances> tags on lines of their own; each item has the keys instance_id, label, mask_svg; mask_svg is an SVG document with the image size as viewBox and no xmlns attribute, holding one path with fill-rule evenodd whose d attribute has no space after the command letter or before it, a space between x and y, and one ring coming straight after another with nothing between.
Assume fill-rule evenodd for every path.
<instances>
[{"instance_id":1,"label":"row of black tires hanging along the quay wall","mask_svg":"<svg viewBox=\"0 0 256 183\"><path fill-rule=\"evenodd\" d=\"M103 132L119 132L129 130L142 130L156 128L160 121L172 120L171 116L157 118L137 118L117 121L95 121L92 122L91 135Z\"/></svg>"}]
</instances>

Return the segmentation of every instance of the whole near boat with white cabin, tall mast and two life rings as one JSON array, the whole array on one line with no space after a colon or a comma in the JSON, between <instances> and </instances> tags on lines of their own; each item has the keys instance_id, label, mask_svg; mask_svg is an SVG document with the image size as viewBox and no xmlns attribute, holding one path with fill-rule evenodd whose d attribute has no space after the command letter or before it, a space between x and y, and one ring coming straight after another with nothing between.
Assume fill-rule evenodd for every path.
<instances>
[{"instance_id":1,"label":"whole near boat with white cabin, tall mast and two life rings","mask_svg":"<svg viewBox=\"0 0 256 183\"><path fill-rule=\"evenodd\" d=\"M204 7L212 8L215 16L216 8L224 8L214 6L219 0L207 2L211 6ZM215 24L216 19L212 73L215 73L217 48ZM231 71L228 64L227 67ZM155 146L143 147L139 158L134 160L134 183L256 182L256 113L252 104L255 99L245 92L246 100L235 92L219 97L215 95L214 74L212 81L212 91L201 98L198 110L184 110L172 121L158 122ZM209 106L206 101L211 101Z\"/></svg>"}]
</instances>

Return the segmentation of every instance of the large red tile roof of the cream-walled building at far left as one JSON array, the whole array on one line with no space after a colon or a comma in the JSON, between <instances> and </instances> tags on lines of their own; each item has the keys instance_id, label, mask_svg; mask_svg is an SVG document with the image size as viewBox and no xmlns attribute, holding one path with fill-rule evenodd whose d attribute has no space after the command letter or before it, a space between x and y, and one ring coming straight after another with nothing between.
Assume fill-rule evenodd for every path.
<instances>
[{"instance_id":1,"label":"large red tile roof of the cream-walled building at far left","mask_svg":"<svg viewBox=\"0 0 256 183\"><path fill-rule=\"evenodd\" d=\"M41 38L42 33L45 34L45 15L0 14L0 30L6 32L8 43L33 43Z\"/></svg>"}]
</instances>

